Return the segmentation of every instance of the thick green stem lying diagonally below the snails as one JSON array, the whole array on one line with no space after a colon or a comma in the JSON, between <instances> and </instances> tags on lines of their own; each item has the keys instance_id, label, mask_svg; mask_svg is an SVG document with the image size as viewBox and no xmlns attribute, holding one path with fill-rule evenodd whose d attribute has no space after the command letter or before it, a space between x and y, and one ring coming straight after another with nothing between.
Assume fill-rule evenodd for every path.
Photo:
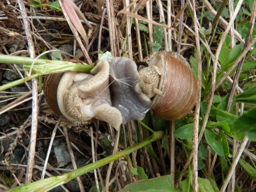
<instances>
[{"instance_id":1,"label":"thick green stem lying diagonally below the snails","mask_svg":"<svg viewBox=\"0 0 256 192\"><path fill-rule=\"evenodd\" d=\"M139 148L146 146L150 143L152 143L153 141L156 141L158 139L161 139L164 137L164 132L159 131L159 132L155 132L151 137L149 137L147 140L142 141L141 143L138 143L136 145L133 145L130 148L127 148L126 150L123 150L122 152L113 154L109 157L106 157L104 159L101 159L99 161L96 161L94 163L91 163L87 166L83 166L81 168L78 168L76 170L73 170L72 172L66 173L66 174L62 174L60 176L57 177L50 177L44 180L40 180L40 181L36 181L30 184L25 184L22 186L18 186L12 189L9 189L7 191L48 191L54 187L57 187L59 185L65 184L69 181L71 181L72 179L75 179L83 174L86 174L88 172L90 172L91 170L94 170L96 168L99 168L103 165L106 165L112 161L115 161L121 157L124 157L125 155L129 155L130 153L138 150Z\"/></svg>"}]
</instances>

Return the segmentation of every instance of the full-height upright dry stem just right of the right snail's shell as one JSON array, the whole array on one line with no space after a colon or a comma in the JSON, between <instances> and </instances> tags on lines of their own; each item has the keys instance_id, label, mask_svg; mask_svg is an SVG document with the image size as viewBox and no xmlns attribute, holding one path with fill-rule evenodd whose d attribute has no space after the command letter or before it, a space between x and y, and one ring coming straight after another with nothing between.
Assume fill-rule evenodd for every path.
<instances>
[{"instance_id":1,"label":"full-height upright dry stem just right of the right snail's shell","mask_svg":"<svg viewBox=\"0 0 256 192\"><path fill-rule=\"evenodd\" d=\"M200 101L201 101L201 76L202 76L202 60L201 60L201 51L200 51L200 40L199 40L199 33L198 33L198 23L197 23L197 14L196 14L196 5L195 0L191 1L193 5L193 17L194 17L194 27L195 27L195 34L196 34L196 46L197 46L197 58L198 58L198 76L197 76L197 87L198 87L198 99L196 103L196 110L195 110L195 120L194 120L194 134L193 134L193 161L192 161L192 169L193 169L193 179L192 179L192 187L193 191L198 191L198 125L199 125L199 113L200 113Z\"/></svg>"}]
</instances>

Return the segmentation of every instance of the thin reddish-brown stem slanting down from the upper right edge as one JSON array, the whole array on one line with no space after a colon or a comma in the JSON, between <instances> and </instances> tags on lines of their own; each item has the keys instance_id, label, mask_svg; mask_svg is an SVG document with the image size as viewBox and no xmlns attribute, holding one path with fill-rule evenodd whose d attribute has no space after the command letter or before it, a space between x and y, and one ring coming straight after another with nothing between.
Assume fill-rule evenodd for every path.
<instances>
[{"instance_id":1,"label":"thin reddish-brown stem slanting down from the upper right edge","mask_svg":"<svg viewBox=\"0 0 256 192\"><path fill-rule=\"evenodd\" d=\"M254 23L255 23L255 17L256 17L256 1L254 1L254 4L253 4L253 9L252 9L252 12L251 12L251 20L250 20L249 29L248 29L248 33L247 33L245 44L244 44L244 49L247 47L247 45L250 42L251 34L252 34L252 31L253 31L253 26L254 26ZM244 59L245 58L243 58L240 61L239 65L238 65L238 69L237 69L236 75L234 76L234 80L233 80L233 84L232 84L232 89L231 89L231 92L229 94L228 103L227 103L227 111L228 112L229 112L229 110L231 108L231 103L232 103L232 98L233 98L233 95L234 95L234 90L235 90L235 88L237 86L237 83L238 83L238 78L239 78L241 70L242 70Z\"/></svg>"}]
</instances>

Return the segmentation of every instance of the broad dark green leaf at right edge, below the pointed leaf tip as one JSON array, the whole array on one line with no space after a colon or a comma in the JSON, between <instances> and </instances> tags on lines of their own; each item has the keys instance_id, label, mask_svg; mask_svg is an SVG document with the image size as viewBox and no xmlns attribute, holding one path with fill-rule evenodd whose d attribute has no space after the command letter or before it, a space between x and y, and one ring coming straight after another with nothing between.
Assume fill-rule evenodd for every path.
<instances>
[{"instance_id":1,"label":"broad dark green leaf at right edge, below the pointed leaf tip","mask_svg":"<svg viewBox=\"0 0 256 192\"><path fill-rule=\"evenodd\" d=\"M252 109L244 113L236 121L234 121L234 130L242 133L256 133L256 109Z\"/></svg>"}]
</instances>

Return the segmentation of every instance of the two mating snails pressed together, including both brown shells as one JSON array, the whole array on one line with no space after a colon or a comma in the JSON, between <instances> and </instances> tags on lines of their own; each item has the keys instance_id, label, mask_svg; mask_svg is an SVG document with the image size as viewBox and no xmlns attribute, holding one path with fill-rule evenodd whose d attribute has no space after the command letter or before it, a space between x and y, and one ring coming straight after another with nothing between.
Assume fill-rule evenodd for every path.
<instances>
[{"instance_id":1,"label":"two mating snails pressed together, including both brown shells","mask_svg":"<svg viewBox=\"0 0 256 192\"><path fill-rule=\"evenodd\" d=\"M46 100L56 115L71 121L94 117L115 129L121 123L143 119L150 109L167 120L188 114L198 91L187 61L169 51L153 53L144 61L148 67L139 72L133 60L115 57L101 59L90 73L47 75Z\"/></svg>"}]
</instances>

